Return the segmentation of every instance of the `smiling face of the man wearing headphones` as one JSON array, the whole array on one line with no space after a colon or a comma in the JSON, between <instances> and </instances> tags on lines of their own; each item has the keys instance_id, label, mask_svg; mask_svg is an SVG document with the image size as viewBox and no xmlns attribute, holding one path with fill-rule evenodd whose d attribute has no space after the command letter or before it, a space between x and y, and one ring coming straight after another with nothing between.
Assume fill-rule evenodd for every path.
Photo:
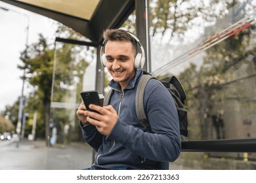
<instances>
[{"instance_id":1,"label":"smiling face of the man wearing headphones","mask_svg":"<svg viewBox=\"0 0 256 183\"><path fill-rule=\"evenodd\" d=\"M135 76L135 52L129 41L108 41L105 47L106 67L115 82L122 90Z\"/></svg>"}]
</instances>

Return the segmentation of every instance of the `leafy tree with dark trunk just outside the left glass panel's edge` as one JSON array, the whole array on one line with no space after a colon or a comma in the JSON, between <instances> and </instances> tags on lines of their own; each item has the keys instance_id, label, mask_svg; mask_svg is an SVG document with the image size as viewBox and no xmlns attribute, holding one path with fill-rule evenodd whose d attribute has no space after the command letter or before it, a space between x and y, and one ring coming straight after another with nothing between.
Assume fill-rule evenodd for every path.
<instances>
[{"instance_id":1,"label":"leafy tree with dark trunk just outside the left glass panel's edge","mask_svg":"<svg viewBox=\"0 0 256 183\"><path fill-rule=\"evenodd\" d=\"M20 59L24 63L19 66L25 69L28 82L35 88L35 93L39 97L39 103L42 105L41 114L45 120L45 137L49 137L50 103L51 103L51 85L53 78L53 50L49 49L46 39L39 35L39 42L27 46L21 53ZM46 144L49 142L46 138Z\"/></svg>"}]
</instances>

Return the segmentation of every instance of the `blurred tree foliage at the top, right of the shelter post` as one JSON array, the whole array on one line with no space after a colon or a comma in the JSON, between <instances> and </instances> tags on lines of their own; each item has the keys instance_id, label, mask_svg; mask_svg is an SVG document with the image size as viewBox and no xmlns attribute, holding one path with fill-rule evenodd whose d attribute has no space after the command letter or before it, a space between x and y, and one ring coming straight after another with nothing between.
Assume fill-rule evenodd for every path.
<instances>
[{"instance_id":1,"label":"blurred tree foliage at the top, right of the shelter post","mask_svg":"<svg viewBox=\"0 0 256 183\"><path fill-rule=\"evenodd\" d=\"M225 14L226 7L234 2L223 1L186 1L186 0L151 0L150 27L152 35L183 37L192 27L213 24L216 18ZM219 12L214 10L218 8Z\"/></svg>"}]
</instances>

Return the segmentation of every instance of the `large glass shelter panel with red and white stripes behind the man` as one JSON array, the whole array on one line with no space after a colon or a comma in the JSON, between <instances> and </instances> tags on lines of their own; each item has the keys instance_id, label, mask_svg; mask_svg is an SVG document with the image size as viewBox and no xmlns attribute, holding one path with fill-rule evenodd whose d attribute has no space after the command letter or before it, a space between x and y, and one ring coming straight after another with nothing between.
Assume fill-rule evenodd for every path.
<instances>
[{"instance_id":1,"label":"large glass shelter panel with red and white stripes behind the man","mask_svg":"<svg viewBox=\"0 0 256 183\"><path fill-rule=\"evenodd\" d=\"M256 1L160 2L150 3L152 73L181 80L188 141L255 139ZM250 152L182 152L170 168L254 169L255 159Z\"/></svg>"}]
</instances>

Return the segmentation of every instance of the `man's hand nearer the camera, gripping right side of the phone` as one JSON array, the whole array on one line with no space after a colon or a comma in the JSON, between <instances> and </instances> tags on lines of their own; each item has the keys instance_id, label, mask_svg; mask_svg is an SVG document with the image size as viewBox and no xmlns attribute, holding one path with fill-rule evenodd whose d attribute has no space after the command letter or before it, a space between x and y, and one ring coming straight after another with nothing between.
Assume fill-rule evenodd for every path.
<instances>
[{"instance_id":1,"label":"man's hand nearer the camera, gripping right side of the phone","mask_svg":"<svg viewBox=\"0 0 256 183\"><path fill-rule=\"evenodd\" d=\"M116 110L111 105L100 107L98 105L91 104L89 107L100 112L100 114L85 110L84 116L87 116L87 122L95 125L101 134L106 136L110 135L118 118Z\"/></svg>"}]
</instances>

